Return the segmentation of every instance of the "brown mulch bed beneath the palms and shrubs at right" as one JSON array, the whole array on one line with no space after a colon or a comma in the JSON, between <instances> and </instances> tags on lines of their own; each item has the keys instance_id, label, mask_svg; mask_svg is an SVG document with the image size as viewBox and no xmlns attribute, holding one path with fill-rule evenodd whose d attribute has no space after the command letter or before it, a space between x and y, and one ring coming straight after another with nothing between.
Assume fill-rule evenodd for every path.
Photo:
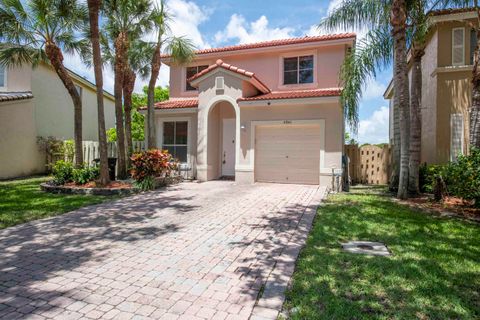
<instances>
[{"instance_id":1,"label":"brown mulch bed beneath the palms and shrubs at right","mask_svg":"<svg viewBox=\"0 0 480 320\"><path fill-rule=\"evenodd\" d=\"M473 202L457 197L445 197L437 202L432 195L422 194L417 198L398 200L401 204L428 211L440 216L454 216L480 222L480 208L473 207Z\"/></svg>"}]
</instances>

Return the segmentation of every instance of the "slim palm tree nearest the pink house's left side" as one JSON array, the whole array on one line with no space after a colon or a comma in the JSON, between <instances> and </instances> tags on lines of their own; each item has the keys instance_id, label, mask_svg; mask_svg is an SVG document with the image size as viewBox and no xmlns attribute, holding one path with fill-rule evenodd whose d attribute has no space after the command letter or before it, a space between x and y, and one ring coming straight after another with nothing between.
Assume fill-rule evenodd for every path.
<instances>
[{"instance_id":1,"label":"slim palm tree nearest the pink house's left side","mask_svg":"<svg viewBox=\"0 0 480 320\"><path fill-rule=\"evenodd\" d=\"M147 91L147 146L148 148L157 148L157 138L155 132L155 86L162 65L161 54L162 47L166 45L166 53L171 56L173 62L183 64L191 61L194 57L194 46L192 42L184 37L167 37L169 31L170 14L165 7L165 1L160 0L160 4L153 10L150 21L154 24L157 32L157 41L154 46L153 55L150 62L150 80Z\"/></svg>"}]
</instances>

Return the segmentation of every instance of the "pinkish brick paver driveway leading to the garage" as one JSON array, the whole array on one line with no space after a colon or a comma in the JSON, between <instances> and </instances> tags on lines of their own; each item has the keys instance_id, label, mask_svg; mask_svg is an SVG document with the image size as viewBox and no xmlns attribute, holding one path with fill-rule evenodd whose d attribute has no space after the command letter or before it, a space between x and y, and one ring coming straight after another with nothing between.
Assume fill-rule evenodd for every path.
<instances>
[{"instance_id":1,"label":"pinkish brick paver driveway leading to the garage","mask_svg":"<svg viewBox=\"0 0 480 320\"><path fill-rule=\"evenodd\" d=\"M323 193L183 183L0 230L0 318L275 317Z\"/></svg>"}]
</instances>

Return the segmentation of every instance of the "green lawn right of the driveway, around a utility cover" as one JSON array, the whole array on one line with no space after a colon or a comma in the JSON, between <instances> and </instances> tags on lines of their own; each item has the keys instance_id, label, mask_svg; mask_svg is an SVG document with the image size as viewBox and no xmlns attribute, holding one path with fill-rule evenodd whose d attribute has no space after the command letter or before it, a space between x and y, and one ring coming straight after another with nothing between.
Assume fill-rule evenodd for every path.
<instances>
[{"instance_id":1,"label":"green lawn right of the driveway, around a utility cover","mask_svg":"<svg viewBox=\"0 0 480 320\"><path fill-rule=\"evenodd\" d=\"M390 257L340 243L385 243ZM393 203L371 189L319 208L287 292L292 319L480 319L480 225Z\"/></svg>"}]
</instances>

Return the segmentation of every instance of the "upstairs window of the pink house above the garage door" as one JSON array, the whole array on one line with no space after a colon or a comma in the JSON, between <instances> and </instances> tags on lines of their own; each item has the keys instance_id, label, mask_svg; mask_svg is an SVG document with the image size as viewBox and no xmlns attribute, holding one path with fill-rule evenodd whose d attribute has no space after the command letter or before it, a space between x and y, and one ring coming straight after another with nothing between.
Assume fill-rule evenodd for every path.
<instances>
[{"instance_id":1,"label":"upstairs window of the pink house above the garage door","mask_svg":"<svg viewBox=\"0 0 480 320\"><path fill-rule=\"evenodd\" d=\"M283 84L313 83L313 55L283 59Z\"/></svg>"}]
</instances>

